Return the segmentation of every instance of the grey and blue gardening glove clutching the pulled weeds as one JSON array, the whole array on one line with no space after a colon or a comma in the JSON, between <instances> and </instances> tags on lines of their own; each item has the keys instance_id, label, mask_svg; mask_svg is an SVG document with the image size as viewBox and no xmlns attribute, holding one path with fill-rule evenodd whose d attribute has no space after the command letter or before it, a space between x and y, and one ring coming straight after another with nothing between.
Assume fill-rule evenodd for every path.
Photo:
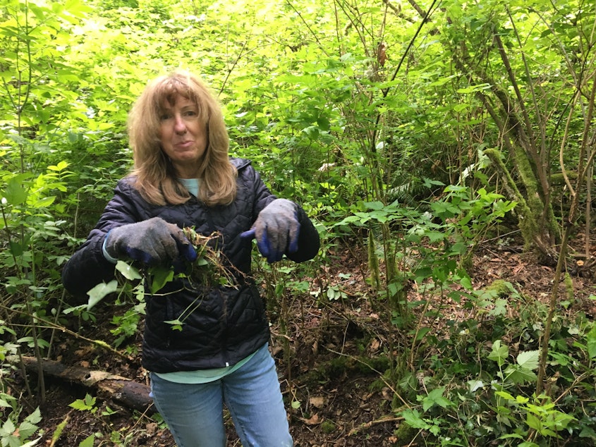
<instances>
[{"instance_id":1,"label":"grey and blue gardening glove clutching the pulled weeds","mask_svg":"<svg viewBox=\"0 0 596 447\"><path fill-rule=\"evenodd\" d=\"M106 236L104 247L111 257L130 258L147 265L197 259L195 247L181 228L159 217L114 228Z\"/></svg>"}]
</instances>

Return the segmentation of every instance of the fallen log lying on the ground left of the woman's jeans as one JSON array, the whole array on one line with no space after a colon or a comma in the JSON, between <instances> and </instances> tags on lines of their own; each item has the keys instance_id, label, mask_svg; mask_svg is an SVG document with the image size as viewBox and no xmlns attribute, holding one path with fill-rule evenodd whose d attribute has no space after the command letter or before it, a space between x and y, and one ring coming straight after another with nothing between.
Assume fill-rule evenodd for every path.
<instances>
[{"instance_id":1,"label":"fallen log lying on the ground left of the woman's jeans","mask_svg":"<svg viewBox=\"0 0 596 447\"><path fill-rule=\"evenodd\" d=\"M35 357L23 357L25 369L37 374L39 364ZM83 385L97 390L99 398L111 399L124 405L126 408L147 412L156 412L153 400L150 398L150 387L145 384L127 379L123 376L110 374L78 366L67 366L56 360L42 360L44 375L55 377L71 384Z\"/></svg>"}]
</instances>

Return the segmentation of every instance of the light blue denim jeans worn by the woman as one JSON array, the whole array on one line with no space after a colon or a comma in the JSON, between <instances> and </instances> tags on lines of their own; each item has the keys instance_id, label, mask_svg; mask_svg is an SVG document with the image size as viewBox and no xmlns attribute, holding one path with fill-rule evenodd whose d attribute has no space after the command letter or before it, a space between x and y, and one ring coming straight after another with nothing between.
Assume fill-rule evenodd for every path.
<instances>
[{"instance_id":1,"label":"light blue denim jeans worn by the woman","mask_svg":"<svg viewBox=\"0 0 596 447\"><path fill-rule=\"evenodd\" d=\"M151 374L151 391L178 447L225 447L224 403L243 447L293 446L267 344L223 379L176 384Z\"/></svg>"}]
</instances>

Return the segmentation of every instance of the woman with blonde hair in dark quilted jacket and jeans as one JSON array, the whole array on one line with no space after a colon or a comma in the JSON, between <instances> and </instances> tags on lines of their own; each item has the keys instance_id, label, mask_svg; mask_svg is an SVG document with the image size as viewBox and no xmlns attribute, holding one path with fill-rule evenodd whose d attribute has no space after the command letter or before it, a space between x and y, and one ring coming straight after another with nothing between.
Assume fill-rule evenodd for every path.
<instances>
[{"instance_id":1,"label":"woman with blonde hair in dark quilted jacket and jeans","mask_svg":"<svg viewBox=\"0 0 596 447\"><path fill-rule=\"evenodd\" d=\"M268 262L312 259L315 227L301 207L269 192L250 161L229 158L219 104L194 75L176 71L151 82L128 130L133 172L64 267L64 286L85 295L114 278L117 259L180 271L197 258L182 228L219 235L235 287L182 276L145 297L142 365L155 405L178 447L224 447L224 404L243 446L291 446L250 252L256 238ZM171 321L181 315L176 330Z\"/></svg>"}]
</instances>

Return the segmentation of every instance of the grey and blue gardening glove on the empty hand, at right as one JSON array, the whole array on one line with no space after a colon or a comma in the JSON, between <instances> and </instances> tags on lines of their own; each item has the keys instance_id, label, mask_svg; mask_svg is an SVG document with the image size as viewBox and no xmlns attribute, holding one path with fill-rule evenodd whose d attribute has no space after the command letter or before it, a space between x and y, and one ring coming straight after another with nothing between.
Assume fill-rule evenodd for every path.
<instances>
[{"instance_id":1,"label":"grey and blue gardening glove on the empty hand, at right","mask_svg":"<svg viewBox=\"0 0 596 447\"><path fill-rule=\"evenodd\" d=\"M284 253L298 250L298 209L286 199L276 199L257 216L253 228L241 233L241 238L257 238L257 248L267 262L280 261Z\"/></svg>"}]
</instances>

